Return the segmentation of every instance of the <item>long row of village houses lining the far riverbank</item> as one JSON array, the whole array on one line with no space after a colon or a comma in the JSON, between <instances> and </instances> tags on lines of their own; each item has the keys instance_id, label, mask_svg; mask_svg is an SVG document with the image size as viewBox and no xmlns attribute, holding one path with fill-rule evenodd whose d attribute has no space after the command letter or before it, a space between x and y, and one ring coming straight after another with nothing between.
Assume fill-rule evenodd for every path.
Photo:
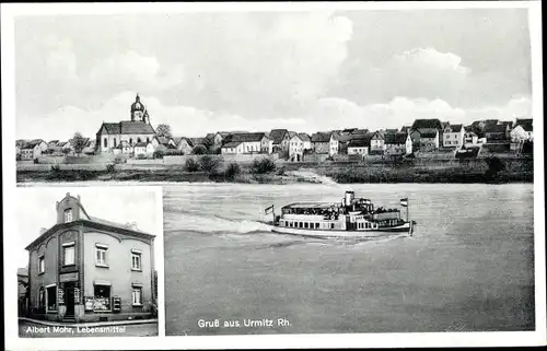
<instances>
[{"instance_id":1,"label":"long row of village houses lining the far riverbank","mask_svg":"<svg viewBox=\"0 0 547 351\"><path fill-rule=\"evenodd\" d=\"M104 126L103 126L104 127ZM101 134L102 136L102 134ZM102 140L102 139L97 139ZM344 130L317 131L313 134L272 129L265 132L219 131L205 138L139 136L128 140L107 139L107 152L140 157L156 151L164 154L274 154L300 162L310 155L319 159L337 154L387 156L407 155L416 151L431 152L440 149L457 150L464 147L486 145L517 150L525 141L533 141L532 119L500 121L497 119L474 121L468 126L451 125L440 119L417 119L411 126L400 129L347 128ZM18 140L18 154L22 160L33 160L40 154L73 153L73 140ZM201 150L198 150L201 149ZM96 140L85 138L83 153L105 152Z\"/></svg>"}]
</instances>

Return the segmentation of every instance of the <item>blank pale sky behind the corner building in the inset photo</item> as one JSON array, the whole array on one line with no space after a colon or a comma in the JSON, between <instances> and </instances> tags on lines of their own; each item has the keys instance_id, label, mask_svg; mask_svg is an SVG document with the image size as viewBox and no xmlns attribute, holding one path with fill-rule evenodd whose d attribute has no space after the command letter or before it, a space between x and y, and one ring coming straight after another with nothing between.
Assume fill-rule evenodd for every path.
<instances>
[{"instance_id":1,"label":"blank pale sky behind the corner building in the inset photo","mask_svg":"<svg viewBox=\"0 0 547 351\"><path fill-rule=\"evenodd\" d=\"M25 247L36 239L40 229L50 229L57 222L56 203L67 192L78 197L89 215L103 220L126 224L137 223L139 231L155 235L154 249L162 244L162 213L158 211L156 196L160 188L150 187L31 187L18 188L16 196L16 237L18 267L28 265L28 253Z\"/></svg>"}]
</instances>

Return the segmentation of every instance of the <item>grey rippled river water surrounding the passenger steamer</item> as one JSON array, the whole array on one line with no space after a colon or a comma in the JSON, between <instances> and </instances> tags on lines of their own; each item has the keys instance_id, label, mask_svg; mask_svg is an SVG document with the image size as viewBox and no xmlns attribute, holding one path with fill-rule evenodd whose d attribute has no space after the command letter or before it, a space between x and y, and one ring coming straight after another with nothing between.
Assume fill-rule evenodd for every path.
<instances>
[{"instance_id":1,"label":"grey rippled river water surrounding the passenger steamer","mask_svg":"<svg viewBox=\"0 0 547 351\"><path fill-rule=\"evenodd\" d=\"M384 207L408 197L415 236L310 239L259 223L270 204L346 189ZM533 226L532 184L165 186L166 335L533 330Z\"/></svg>"}]
</instances>

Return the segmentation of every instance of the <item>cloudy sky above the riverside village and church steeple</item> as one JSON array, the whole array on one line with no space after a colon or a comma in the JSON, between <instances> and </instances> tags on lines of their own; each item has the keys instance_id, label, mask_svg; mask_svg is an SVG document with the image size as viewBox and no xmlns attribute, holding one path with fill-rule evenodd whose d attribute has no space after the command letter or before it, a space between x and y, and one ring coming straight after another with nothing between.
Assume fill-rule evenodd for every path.
<instances>
[{"instance_id":1,"label":"cloudy sky above the riverside village and church steeple","mask_svg":"<svg viewBox=\"0 0 547 351\"><path fill-rule=\"evenodd\" d=\"M532 118L525 9L21 16L18 139Z\"/></svg>"}]
</instances>

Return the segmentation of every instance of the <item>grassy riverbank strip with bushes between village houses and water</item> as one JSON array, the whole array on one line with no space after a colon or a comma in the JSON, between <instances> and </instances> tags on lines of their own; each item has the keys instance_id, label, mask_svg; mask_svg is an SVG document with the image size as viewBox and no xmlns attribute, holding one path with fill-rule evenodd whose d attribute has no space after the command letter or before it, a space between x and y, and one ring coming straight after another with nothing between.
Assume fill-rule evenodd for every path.
<instances>
[{"instance_id":1,"label":"grassy riverbank strip with bushes between village houses and water","mask_svg":"<svg viewBox=\"0 0 547 351\"><path fill-rule=\"evenodd\" d=\"M188 172L184 167L146 166L137 169L123 167L110 169L37 169L18 171L18 183L33 182L185 182L185 183L242 183L242 184L294 184L294 183L533 183L532 159L501 161L469 160L465 162L401 162L353 163L278 166L264 173L253 173L242 165L236 173L226 169L213 173Z\"/></svg>"}]
</instances>

